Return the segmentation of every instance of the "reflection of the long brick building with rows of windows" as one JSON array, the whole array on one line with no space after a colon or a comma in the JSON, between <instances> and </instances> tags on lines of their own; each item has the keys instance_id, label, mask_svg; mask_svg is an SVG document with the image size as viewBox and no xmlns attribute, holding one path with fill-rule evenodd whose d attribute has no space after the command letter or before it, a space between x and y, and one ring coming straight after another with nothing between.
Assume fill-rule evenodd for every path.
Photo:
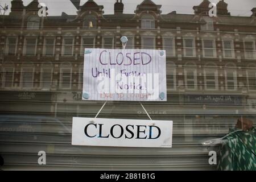
<instances>
[{"instance_id":1,"label":"reflection of the long brick building with rows of windows","mask_svg":"<svg viewBox=\"0 0 256 182\"><path fill-rule=\"evenodd\" d=\"M236 115L256 111L255 8L251 17L232 16L220 1L217 17L210 18L209 1L188 15L162 14L161 5L145 0L134 14L123 14L123 3L117 1L114 14L105 15L92 0L82 6L72 2L77 15L40 18L38 1L23 6L22 0L13 0L11 13L0 16L2 113L27 111L68 117L69 122L74 115L93 116L100 104L80 100L84 47L121 48L123 35L129 38L127 48L167 51L168 102L146 107L154 119L179 123L174 143L186 146L224 134ZM110 104L104 115L142 117L134 116L139 106L122 105L129 110L113 110ZM202 149L193 147L200 155Z\"/></svg>"}]
</instances>

